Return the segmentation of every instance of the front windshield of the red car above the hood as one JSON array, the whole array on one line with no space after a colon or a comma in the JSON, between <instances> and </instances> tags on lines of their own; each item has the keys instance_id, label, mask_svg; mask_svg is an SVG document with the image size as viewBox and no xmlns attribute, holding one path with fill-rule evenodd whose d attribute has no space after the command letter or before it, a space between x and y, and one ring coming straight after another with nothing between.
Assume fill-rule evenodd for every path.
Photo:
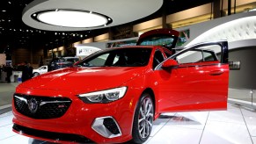
<instances>
[{"instance_id":1,"label":"front windshield of the red car above the hood","mask_svg":"<svg viewBox=\"0 0 256 144\"><path fill-rule=\"evenodd\" d=\"M142 67L150 60L151 48L113 48L80 61L80 67Z\"/></svg>"}]
</instances>

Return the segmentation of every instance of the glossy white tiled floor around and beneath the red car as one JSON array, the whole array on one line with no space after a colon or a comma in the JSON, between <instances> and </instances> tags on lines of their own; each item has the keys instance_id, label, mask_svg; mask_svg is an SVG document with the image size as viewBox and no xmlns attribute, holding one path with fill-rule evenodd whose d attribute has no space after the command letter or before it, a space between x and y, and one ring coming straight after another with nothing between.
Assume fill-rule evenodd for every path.
<instances>
[{"instance_id":1,"label":"glossy white tiled floor around and beneath the red car","mask_svg":"<svg viewBox=\"0 0 256 144\"><path fill-rule=\"evenodd\" d=\"M0 115L1 144L46 144L11 131L11 112ZM256 144L256 112L235 104L228 111L163 113L147 144Z\"/></svg>"}]
</instances>

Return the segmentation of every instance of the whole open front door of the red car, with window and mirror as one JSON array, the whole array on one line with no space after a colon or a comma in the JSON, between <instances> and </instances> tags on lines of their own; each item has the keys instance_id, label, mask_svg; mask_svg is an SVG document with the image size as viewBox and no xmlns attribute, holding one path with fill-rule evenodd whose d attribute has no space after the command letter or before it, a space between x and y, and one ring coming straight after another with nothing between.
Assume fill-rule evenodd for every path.
<instances>
[{"instance_id":1,"label":"whole open front door of the red car, with window and mirror","mask_svg":"<svg viewBox=\"0 0 256 144\"><path fill-rule=\"evenodd\" d=\"M154 69L159 112L225 110L229 63L228 42L183 48Z\"/></svg>"}]
</instances>

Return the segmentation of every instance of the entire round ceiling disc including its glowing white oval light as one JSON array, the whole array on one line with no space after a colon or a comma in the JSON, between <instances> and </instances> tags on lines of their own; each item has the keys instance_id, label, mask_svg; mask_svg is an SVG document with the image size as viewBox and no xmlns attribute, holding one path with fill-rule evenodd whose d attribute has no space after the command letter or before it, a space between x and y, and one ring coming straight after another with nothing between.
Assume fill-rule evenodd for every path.
<instances>
[{"instance_id":1,"label":"entire round ceiling disc including its glowing white oval light","mask_svg":"<svg viewBox=\"0 0 256 144\"><path fill-rule=\"evenodd\" d=\"M159 10L162 4L163 0L34 0L24 9L22 20L26 25L47 31L93 30L145 18ZM41 11L49 10L50 13L41 14ZM79 11L69 13L68 18L69 14L66 12L70 10ZM62 11L65 14L54 11Z\"/></svg>"}]
</instances>

